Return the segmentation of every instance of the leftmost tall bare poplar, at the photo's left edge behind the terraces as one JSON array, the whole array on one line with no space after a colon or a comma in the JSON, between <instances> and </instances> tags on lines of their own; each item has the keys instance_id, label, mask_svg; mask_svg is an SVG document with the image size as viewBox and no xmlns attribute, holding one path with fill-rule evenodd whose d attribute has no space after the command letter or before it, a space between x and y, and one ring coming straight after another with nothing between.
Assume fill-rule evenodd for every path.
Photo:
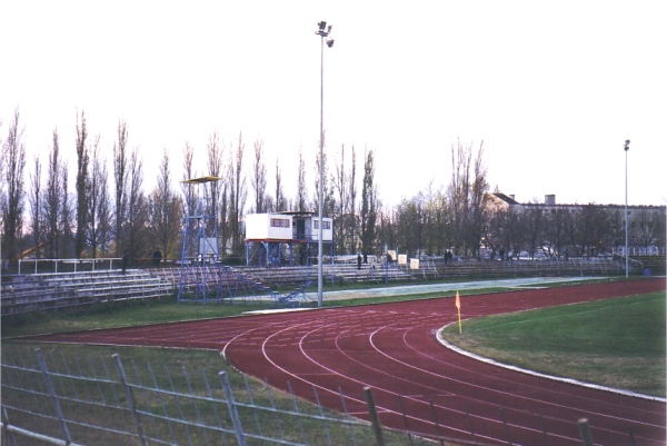
<instances>
[{"instance_id":1,"label":"leftmost tall bare poplar, at the photo's left edge behind the terraces","mask_svg":"<svg viewBox=\"0 0 667 446\"><path fill-rule=\"evenodd\" d=\"M23 170L26 168L26 146L23 130L19 130L19 109L9 125L9 135L2 145L2 257L13 262L20 252L20 239L23 232L23 211L26 191Z\"/></svg>"}]
</instances>

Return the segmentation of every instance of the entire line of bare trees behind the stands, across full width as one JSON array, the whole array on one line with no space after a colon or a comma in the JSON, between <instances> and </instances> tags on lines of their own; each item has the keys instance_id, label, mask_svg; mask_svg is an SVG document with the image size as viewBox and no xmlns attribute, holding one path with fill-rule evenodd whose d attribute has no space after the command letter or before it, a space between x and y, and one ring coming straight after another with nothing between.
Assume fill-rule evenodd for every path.
<instances>
[{"instance_id":1,"label":"entire line of bare trees behind the stands, across full width","mask_svg":"<svg viewBox=\"0 0 667 446\"><path fill-rule=\"evenodd\" d=\"M120 256L149 257L156 247L167 258L178 258L182 244L183 216L192 215L196 191L175 187L169 152L159 161L157 186L143 191L143 163L130 132L119 121L112 147L112 171L100 138L90 137L83 111L77 113L76 190L68 190L71 156L61 151L53 130L47 159L36 157L28 186L26 147L17 110L2 142L1 210L2 258ZM209 136L206 166L198 172L195 148L182 149L182 179L199 176L220 178L206 185L215 204L220 246L232 255L245 251L246 212L311 211L318 208L319 181L309 195L306 162L298 152L297 192L290 199L276 160L269 176L263 141L257 138L246 149L242 135L226 141L217 131ZM246 160L251 156L250 161ZM484 145L458 141L451 146L451 176L446 186L428 185L412 198L396 206L382 205L374 181L374 150L365 150L358 172L357 150L345 145L329 169L327 151L317 157L323 210L334 217L338 254L382 254L385 247L415 255L457 255L508 258L521 252L549 257L589 256L620 247L624 242L621 209L596 205L545 207L538 204L497 206L489 194ZM271 162L272 165L272 162ZM269 186L270 185L270 186ZM312 198L310 198L312 197ZM659 209L659 208L658 208ZM633 246L665 245L665 212L655 209L634 212L630 220Z\"/></svg>"}]
</instances>

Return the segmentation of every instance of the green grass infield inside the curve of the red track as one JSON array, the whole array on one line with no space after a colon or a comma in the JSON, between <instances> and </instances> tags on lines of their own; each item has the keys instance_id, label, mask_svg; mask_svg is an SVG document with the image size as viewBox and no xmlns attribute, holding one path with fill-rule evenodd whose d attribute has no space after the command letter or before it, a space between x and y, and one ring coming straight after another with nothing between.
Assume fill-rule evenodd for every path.
<instances>
[{"instance_id":1,"label":"green grass infield inside the curve of the red track","mask_svg":"<svg viewBox=\"0 0 667 446\"><path fill-rule=\"evenodd\" d=\"M665 294L489 316L445 338L500 363L665 397Z\"/></svg>"}]
</instances>

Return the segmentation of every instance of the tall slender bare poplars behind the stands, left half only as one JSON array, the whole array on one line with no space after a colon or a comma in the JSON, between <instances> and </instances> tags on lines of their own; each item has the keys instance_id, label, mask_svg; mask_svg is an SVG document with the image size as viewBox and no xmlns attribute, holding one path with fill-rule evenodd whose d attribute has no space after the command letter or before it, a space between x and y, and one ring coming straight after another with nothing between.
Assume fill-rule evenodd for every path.
<instances>
[{"instance_id":1,"label":"tall slender bare poplars behind the stands, left half only","mask_svg":"<svg viewBox=\"0 0 667 446\"><path fill-rule=\"evenodd\" d=\"M177 258L181 246L183 217L193 215L197 191L181 182L175 188L169 152L165 149L159 165L157 186L143 192L143 163L137 147L131 148L127 122L119 121L112 147L112 171L100 147L100 138L90 137L83 111L77 113L74 153L77 161L76 190L68 190L71 156L63 156L58 130L53 130L48 149L48 161L36 156L30 184L24 184L26 147L17 109L9 126L7 140L2 141L2 258L16 260L23 256L38 258L107 257L120 256L129 250L132 258L149 257L158 247L167 257ZM218 132L210 135L206 150L205 174L197 171L195 148L186 143L182 155L182 179L199 176L219 178L206 185L207 199L215 202L219 221L220 244L226 251L240 255L245 250L245 212L310 211L318 207L319 184L309 198L306 182L306 162L299 150L298 192L290 200L283 191L280 165L275 165L275 189L269 190L269 175L263 152L263 141L253 141L250 175L247 175L247 149L242 135L225 141ZM374 185L374 152L368 151L364 177L362 211L359 215L356 186L356 151L346 162L346 148L341 148L340 166L329 177L327 158L316 160L316 177L323 169L325 212L346 215L347 222L337 227L340 249L366 249L374 242L377 215L377 187ZM251 191L248 184L250 184ZM252 194L251 197L249 195ZM28 214L28 217L26 216ZM338 220L337 220L338 221ZM342 220L341 220L342 221ZM358 226L364 226L364 237Z\"/></svg>"}]
</instances>

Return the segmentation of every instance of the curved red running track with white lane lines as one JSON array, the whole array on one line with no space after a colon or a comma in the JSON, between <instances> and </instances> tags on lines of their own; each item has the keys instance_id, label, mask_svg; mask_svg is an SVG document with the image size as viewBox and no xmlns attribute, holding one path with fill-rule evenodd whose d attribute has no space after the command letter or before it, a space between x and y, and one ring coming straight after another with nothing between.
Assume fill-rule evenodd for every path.
<instances>
[{"instance_id":1,"label":"curved red running track with white lane lines","mask_svg":"<svg viewBox=\"0 0 667 446\"><path fill-rule=\"evenodd\" d=\"M665 290L664 279L466 296L461 317ZM490 444L665 445L666 404L484 364L451 351L437 330L456 321L454 299L279 313L57 335L41 340L221 350L240 370L367 418L372 389L384 426ZM404 417L404 412L406 416ZM545 432L548 437L545 438Z\"/></svg>"}]
</instances>

